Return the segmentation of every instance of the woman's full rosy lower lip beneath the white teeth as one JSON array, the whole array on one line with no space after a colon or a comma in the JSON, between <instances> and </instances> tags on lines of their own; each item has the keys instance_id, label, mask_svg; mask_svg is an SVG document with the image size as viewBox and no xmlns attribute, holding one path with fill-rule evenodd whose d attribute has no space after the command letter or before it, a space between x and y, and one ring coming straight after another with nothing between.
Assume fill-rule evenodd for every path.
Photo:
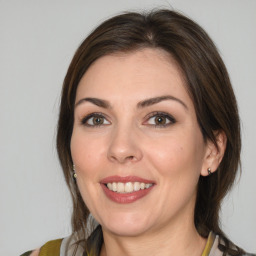
<instances>
[{"instance_id":1,"label":"woman's full rosy lower lip beneath the white teeth","mask_svg":"<svg viewBox=\"0 0 256 256\"><path fill-rule=\"evenodd\" d=\"M141 189L139 191L134 191L131 193L117 193L114 191L109 190L105 184L101 184L101 187L103 191L105 192L105 195L112 201L119 203L119 204L129 204L133 203L142 197L146 196L154 187L151 186L146 189Z\"/></svg>"}]
</instances>

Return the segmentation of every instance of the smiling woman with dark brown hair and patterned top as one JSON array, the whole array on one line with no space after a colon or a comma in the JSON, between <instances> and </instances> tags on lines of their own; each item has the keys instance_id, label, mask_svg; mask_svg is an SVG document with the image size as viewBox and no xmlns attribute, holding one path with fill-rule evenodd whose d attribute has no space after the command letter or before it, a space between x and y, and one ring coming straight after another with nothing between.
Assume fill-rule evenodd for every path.
<instances>
[{"instance_id":1,"label":"smiling woman with dark brown hair and patterned top","mask_svg":"<svg viewBox=\"0 0 256 256\"><path fill-rule=\"evenodd\" d=\"M183 15L126 13L84 40L57 148L73 234L31 255L249 255L219 226L240 164L235 96L213 42Z\"/></svg>"}]
</instances>

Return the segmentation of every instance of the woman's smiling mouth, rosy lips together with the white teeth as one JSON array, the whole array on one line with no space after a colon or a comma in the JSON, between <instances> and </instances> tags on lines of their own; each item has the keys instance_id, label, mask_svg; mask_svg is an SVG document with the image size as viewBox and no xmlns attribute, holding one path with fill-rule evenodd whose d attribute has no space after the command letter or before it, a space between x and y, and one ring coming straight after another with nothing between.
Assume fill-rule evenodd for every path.
<instances>
[{"instance_id":1,"label":"woman's smiling mouth, rosy lips together with the white teeth","mask_svg":"<svg viewBox=\"0 0 256 256\"><path fill-rule=\"evenodd\" d=\"M136 176L111 176L100 182L105 195L116 203L132 203L148 193L154 187L155 182Z\"/></svg>"}]
</instances>

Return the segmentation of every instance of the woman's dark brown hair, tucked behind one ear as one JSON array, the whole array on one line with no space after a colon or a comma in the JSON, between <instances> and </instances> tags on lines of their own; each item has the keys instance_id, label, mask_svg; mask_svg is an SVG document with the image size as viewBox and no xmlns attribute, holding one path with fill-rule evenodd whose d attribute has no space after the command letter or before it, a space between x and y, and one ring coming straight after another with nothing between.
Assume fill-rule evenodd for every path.
<instances>
[{"instance_id":1,"label":"woman's dark brown hair, tucked behind one ear","mask_svg":"<svg viewBox=\"0 0 256 256\"><path fill-rule=\"evenodd\" d=\"M240 123L235 95L227 69L207 33L194 21L171 10L129 12L98 26L79 46L68 68L60 105L57 150L73 200L73 232L83 230L86 241L89 210L73 180L70 140L78 83L88 67L104 55L160 48L176 61L186 81L197 121L205 140L215 145L216 131L227 136L224 157L218 170L200 177L194 223L203 237L210 231L224 234L219 224L222 199L234 183L240 165Z\"/></svg>"}]
</instances>

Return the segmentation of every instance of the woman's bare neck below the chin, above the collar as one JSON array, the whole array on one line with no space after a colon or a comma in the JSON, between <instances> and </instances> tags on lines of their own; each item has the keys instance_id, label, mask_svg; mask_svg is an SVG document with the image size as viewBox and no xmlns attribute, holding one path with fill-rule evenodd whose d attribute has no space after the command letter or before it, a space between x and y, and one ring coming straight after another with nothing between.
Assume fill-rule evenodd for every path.
<instances>
[{"instance_id":1,"label":"woman's bare neck below the chin, above the collar","mask_svg":"<svg viewBox=\"0 0 256 256\"><path fill-rule=\"evenodd\" d=\"M183 223L184 224L184 223ZM186 224L186 223L185 223ZM202 238L194 225L182 225L142 234L121 237L104 231L104 243L100 256L200 256L206 239Z\"/></svg>"}]
</instances>

